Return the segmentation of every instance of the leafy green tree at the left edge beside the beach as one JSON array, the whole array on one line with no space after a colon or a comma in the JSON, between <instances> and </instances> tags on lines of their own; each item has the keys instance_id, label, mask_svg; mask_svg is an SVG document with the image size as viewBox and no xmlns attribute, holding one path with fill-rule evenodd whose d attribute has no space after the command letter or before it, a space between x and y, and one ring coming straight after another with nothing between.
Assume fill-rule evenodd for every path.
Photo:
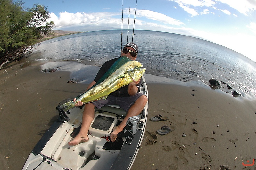
<instances>
[{"instance_id":1,"label":"leafy green tree at the left edge beside the beach","mask_svg":"<svg viewBox=\"0 0 256 170\"><path fill-rule=\"evenodd\" d=\"M18 60L31 52L44 35L53 33L54 22L41 4L24 9L22 1L0 0L0 69L3 64ZM39 44L38 44L39 45Z\"/></svg>"}]
</instances>

